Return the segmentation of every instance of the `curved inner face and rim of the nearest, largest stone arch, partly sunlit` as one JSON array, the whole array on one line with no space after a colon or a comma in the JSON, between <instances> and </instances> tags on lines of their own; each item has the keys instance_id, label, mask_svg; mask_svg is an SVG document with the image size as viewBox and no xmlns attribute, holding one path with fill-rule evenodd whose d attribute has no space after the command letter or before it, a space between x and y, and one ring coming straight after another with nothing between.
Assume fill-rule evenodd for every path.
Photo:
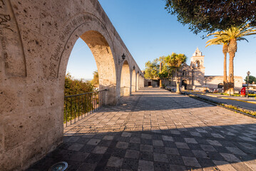
<instances>
[{"instance_id":1,"label":"curved inner face and rim of the nearest, largest stone arch, partly sunlit","mask_svg":"<svg viewBox=\"0 0 256 171\"><path fill-rule=\"evenodd\" d=\"M80 31L81 29L78 29L78 32ZM63 51L58 76L64 80L68 58L71 54L70 47L72 47L80 37L87 44L88 48L90 48L91 53L93 54L93 57L96 61L99 78L98 89L107 89L105 97L106 104L116 105L116 68L112 53L113 48L110 46L111 42L108 42L110 40L110 38L108 38L108 34L103 34L99 31L92 30L81 33L81 36L77 36L79 33L74 33L74 35L71 36L71 38L68 40L66 49ZM105 37L108 38L108 41Z\"/></svg>"}]
</instances>

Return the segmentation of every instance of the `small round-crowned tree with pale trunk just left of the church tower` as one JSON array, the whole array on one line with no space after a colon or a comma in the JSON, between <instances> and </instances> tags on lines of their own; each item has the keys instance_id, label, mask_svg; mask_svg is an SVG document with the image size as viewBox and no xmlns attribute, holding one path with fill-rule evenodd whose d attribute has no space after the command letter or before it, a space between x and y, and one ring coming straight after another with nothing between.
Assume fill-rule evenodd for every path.
<instances>
[{"instance_id":1,"label":"small round-crowned tree with pale trunk just left of the church tower","mask_svg":"<svg viewBox=\"0 0 256 171\"><path fill-rule=\"evenodd\" d=\"M183 63L186 62L187 56L184 54L177 54L177 53L172 53L169 56L166 56L165 58L166 62L168 63L168 66L170 68L173 68L175 72L175 80L176 80L176 93L180 93L180 81L178 79L178 70L183 66Z\"/></svg>"}]
</instances>

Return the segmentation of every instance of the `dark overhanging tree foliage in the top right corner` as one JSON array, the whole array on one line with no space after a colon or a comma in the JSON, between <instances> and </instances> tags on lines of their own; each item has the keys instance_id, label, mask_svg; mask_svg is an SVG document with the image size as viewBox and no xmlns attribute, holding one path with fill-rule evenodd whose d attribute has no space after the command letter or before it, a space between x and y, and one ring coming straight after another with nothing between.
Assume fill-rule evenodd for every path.
<instances>
[{"instance_id":1,"label":"dark overhanging tree foliage in the top right corner","mask_svg":"<svg viewBox=\"0 0 256 171\"><path fill-rule=\"evenodd\" d=\"M255 0L165 0L165 9L193 33L213 33L231 26L256 26Z\"/></svg>"}]
</instances>

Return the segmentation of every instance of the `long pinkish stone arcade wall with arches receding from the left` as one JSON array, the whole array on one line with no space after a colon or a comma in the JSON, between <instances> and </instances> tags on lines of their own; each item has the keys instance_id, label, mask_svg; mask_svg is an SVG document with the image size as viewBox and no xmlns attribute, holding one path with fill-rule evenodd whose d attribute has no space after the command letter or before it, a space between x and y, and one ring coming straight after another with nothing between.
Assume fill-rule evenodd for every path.
<instances>
[{"instance_id":1,"label":"long pinkish stone arcade wall with arches receding from the left","mask_svg":"<svg viewBox=\"0 0 256 171\"><path fill-rule=\"evenodd\" d=\"M79 37L96 60L108 105L142 88L143 73L97 0L0 6L0 168L25 170L62 142L64 78Z\"/></svg>"}]
</instances>

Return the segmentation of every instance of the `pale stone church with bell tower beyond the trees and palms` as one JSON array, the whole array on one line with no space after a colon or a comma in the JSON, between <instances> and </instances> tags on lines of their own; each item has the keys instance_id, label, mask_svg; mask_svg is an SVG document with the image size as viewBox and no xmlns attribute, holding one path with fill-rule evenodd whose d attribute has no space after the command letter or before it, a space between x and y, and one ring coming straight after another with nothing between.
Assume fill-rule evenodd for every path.
<instances>
[{"instance_id":1,"label":"pale stone church with bell tower beyond the trees and palms","mask_svg":"<svg viewBox=\"0 0 256 171\"><path fill-rule=\"evenodd\" d=\"M203 90L203 87L208 87L212 90L222 91L223 87L223 76L205 76L203 53L197 48L193 56L190 58L190 66L187 63L183 64L178 74L180 86L184 90ZM242 88L242 77L235 76L235 90L241 90ZM154 81L153 81L154 82ZM150 80L145 79L145 86L157 86L157 81L153 83ZM164 86L175 86L175 78L172 81L167 79L162 81ZM158 83L159 86L159 83Z\"/></svg>"}]
</instances>

